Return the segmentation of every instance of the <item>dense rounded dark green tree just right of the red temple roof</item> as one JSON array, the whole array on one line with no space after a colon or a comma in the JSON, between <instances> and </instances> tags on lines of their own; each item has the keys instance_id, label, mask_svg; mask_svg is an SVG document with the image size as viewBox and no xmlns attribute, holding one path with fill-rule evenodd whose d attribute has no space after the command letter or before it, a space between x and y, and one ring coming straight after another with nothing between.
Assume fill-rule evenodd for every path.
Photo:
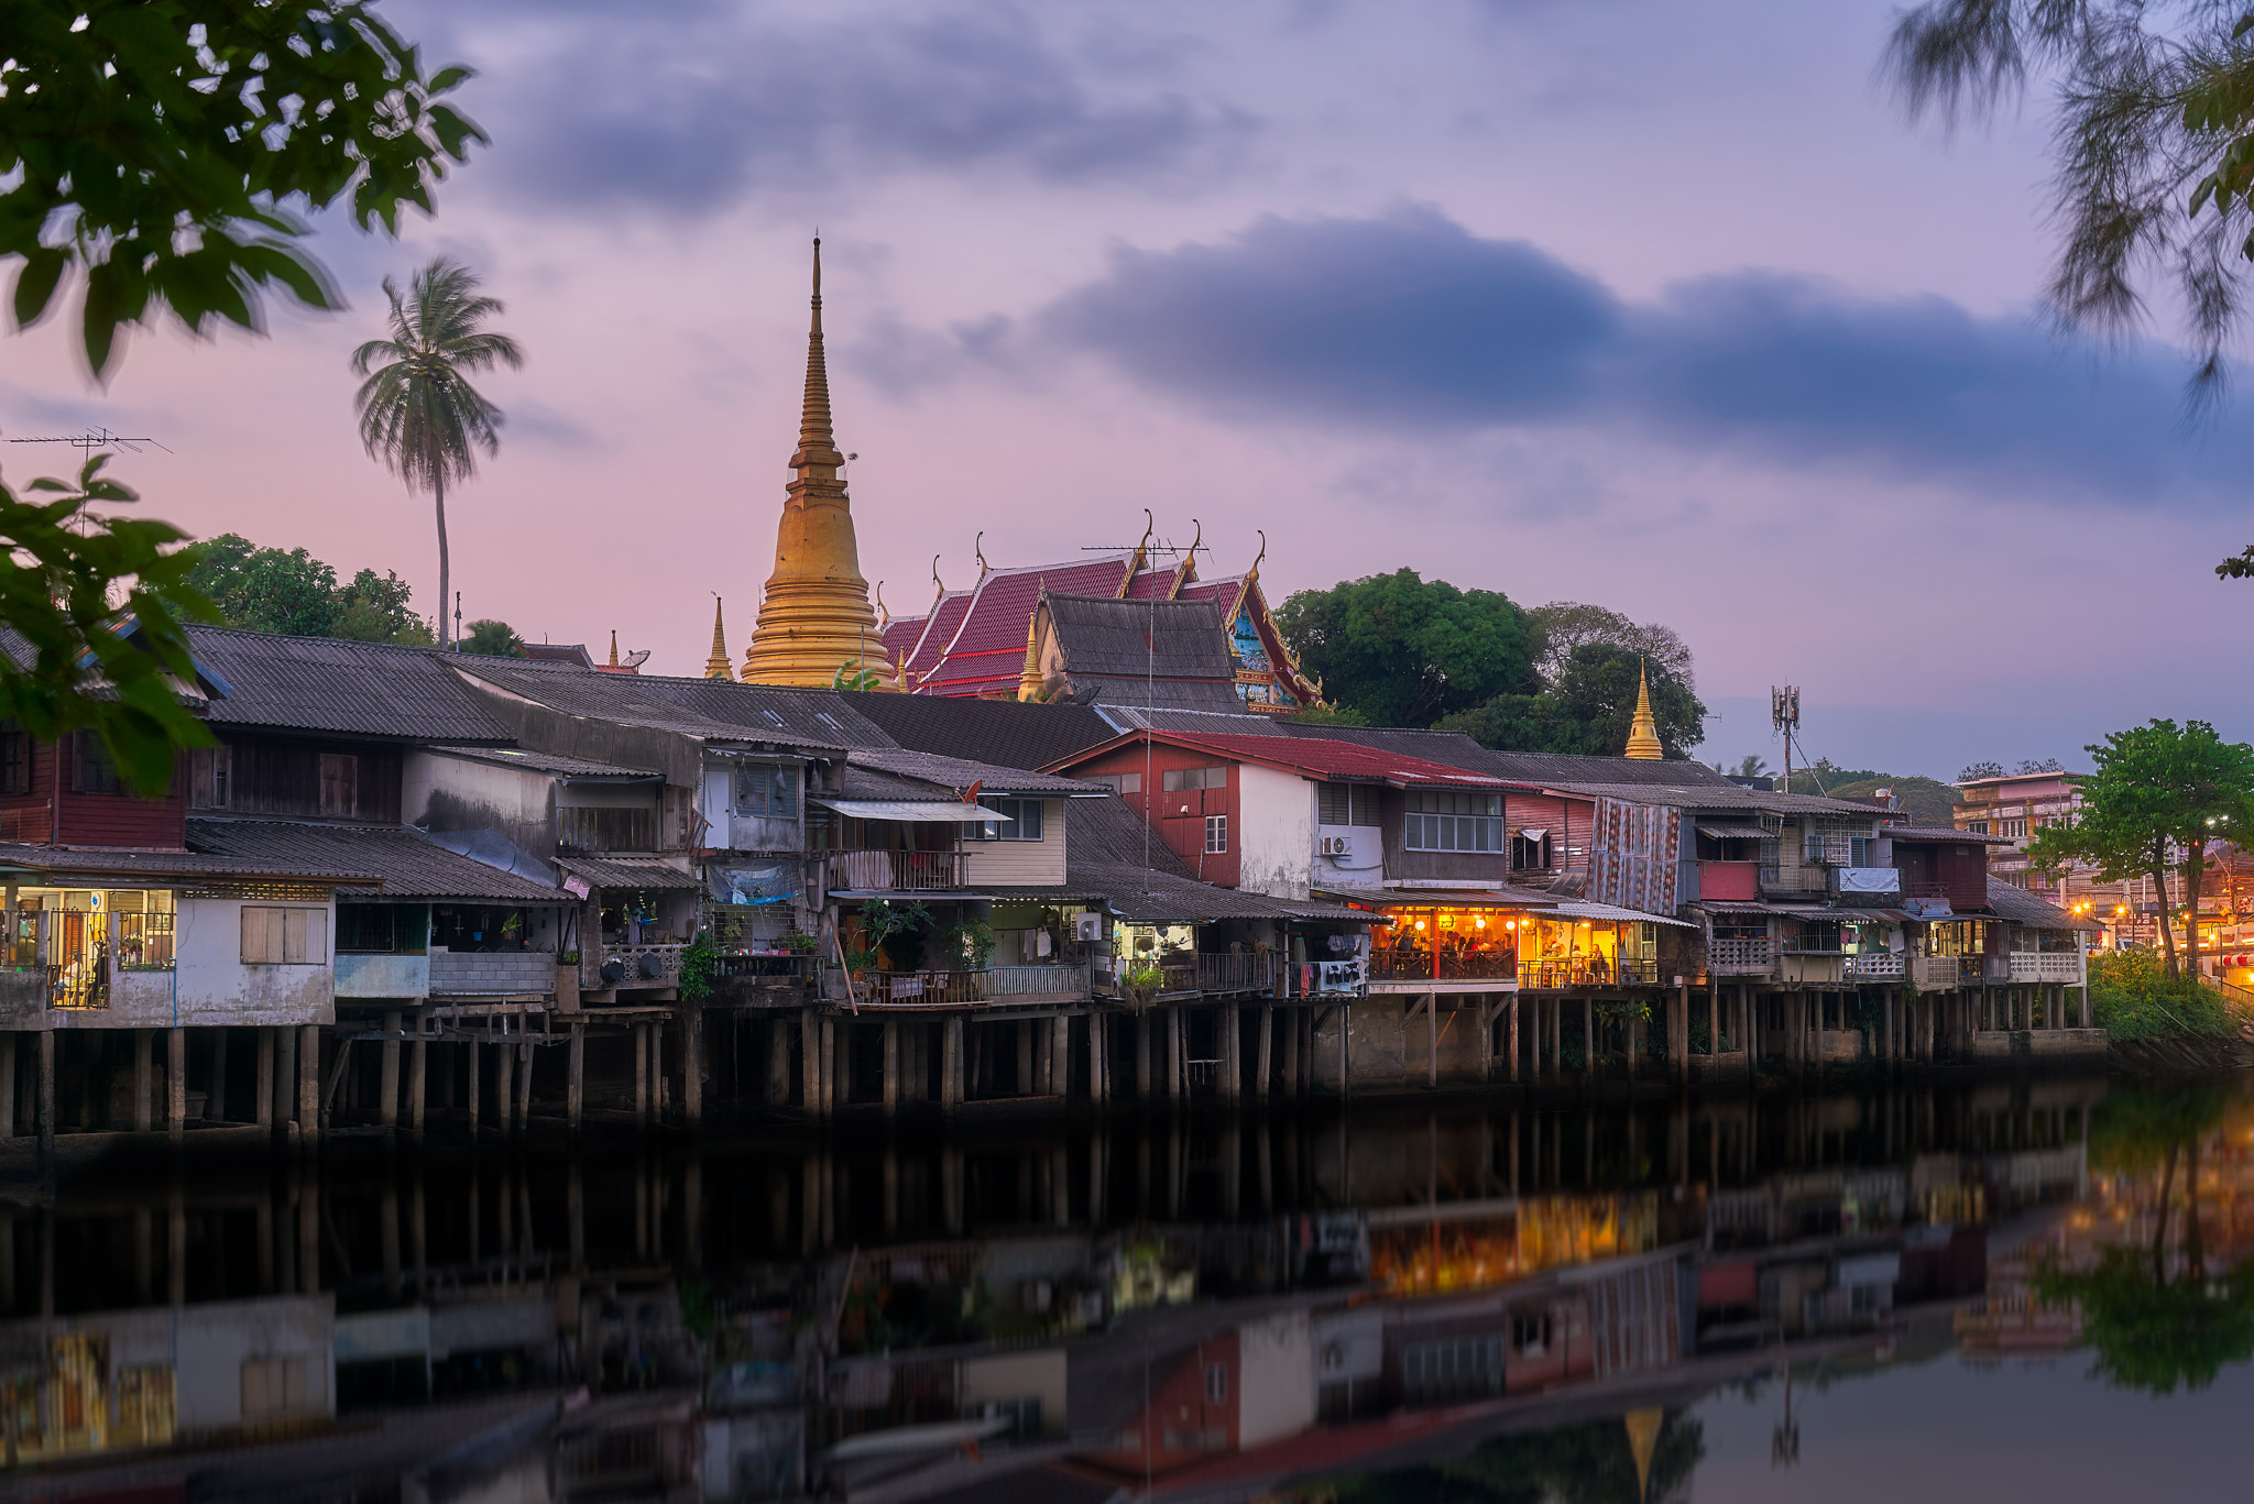
<instances>
[{"instance_id":1,"label":"dense rounded dark green tree just right of the red temple roof","mask_svg":"<svg viewBox=\"0 0 2254 1504\"><path fill-rule=\"evenodd\" d=\"M1377 726L1429 726L1537 688L1526 618L1506 595L1413 568L1298 591L1276 625L1323 692Z\"/></svg>"}]
</instances>

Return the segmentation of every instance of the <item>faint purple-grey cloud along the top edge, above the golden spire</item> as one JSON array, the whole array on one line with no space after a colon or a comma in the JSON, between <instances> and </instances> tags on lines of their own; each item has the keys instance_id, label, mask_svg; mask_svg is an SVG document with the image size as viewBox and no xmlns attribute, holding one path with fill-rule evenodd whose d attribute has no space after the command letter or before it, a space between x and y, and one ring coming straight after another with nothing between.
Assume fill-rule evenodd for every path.
<instances>
[{"instance_id":1,"label":"faint purple-grey cloud along the top edge, above the golden spire","mask_svg":"<svg viewBox=\"0 0 2254 1504\"><path fill-rule=\"evenodd\" d=\"M1217 169L1253 131L1242 110L1107 61L1116 43L1075 59L1010 9L852 25L701 5L636 27L613 9L500 16L507 83L496 70L464 101L494 135L482 171L573 210L710 212L902 169L1165 178Z\"/></svg>"}]
</instances>

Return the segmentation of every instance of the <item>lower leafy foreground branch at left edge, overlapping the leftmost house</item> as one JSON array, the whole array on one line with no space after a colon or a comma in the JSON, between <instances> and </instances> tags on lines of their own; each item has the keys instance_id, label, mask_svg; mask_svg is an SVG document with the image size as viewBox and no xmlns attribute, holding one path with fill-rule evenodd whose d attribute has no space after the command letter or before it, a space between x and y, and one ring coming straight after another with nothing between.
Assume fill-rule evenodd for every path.
<instances>
[{"instance_id":1,"label":"lower leafy foreground branch at left edge, overlapping the leftmost house","mask_svg":"<svg viewBox=\"0 0 2254 1504\"><path fill-rule=\"evenodd\" d=\"M187 534L88 512L135 501L106 462L27 487L52 501L0 485L0 715L38 740L92 731L128 787L162 794L174 749L212 744L176 685L196 679L183 625L216 611L189 582L196 552L176 548Z\"/></svg>"}]
</instances>

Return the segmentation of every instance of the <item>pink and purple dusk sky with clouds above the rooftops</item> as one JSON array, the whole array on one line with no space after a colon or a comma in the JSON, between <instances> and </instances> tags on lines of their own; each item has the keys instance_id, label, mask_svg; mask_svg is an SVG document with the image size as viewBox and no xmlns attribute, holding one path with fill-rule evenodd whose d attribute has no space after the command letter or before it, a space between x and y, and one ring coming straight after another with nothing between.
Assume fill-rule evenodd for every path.
<instances>
[{"instance_id":1,"label":"pink and purple dusk sky with clouds above the rooftops","mask_svg":"<svg viewBox=\"0 0 2254 1504\"><path fill-rule=\"evenodd\" d=\"M701 672L748 643L823 237L861 568L895 613L974 546L1271 600L1409 566L1675 627L1709 762L1952 778L2146 717L2254 735L2243 404L2042 318L2040 92L1914 126L1891 0L980 0L383 7L489 135L397 241L325 223L349 309L135 334L106 388L0 338L0 435L106 424L194 534L437 589L358 444L385 275L478 268L527 352L449 498L469 620ZM72 304L74 307L74 304ZM11 480L68 451L7 449ZM983 534L983 539L980 539Z\"/></svg>"}]
</instances>

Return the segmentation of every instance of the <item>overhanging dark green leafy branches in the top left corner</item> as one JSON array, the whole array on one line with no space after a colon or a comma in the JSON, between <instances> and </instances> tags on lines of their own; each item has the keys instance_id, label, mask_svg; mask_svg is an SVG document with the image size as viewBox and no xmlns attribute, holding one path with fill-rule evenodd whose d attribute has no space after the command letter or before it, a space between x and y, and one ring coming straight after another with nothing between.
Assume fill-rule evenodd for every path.
<instances>
[{"instance_id":1,"label":"overhanging dark green leafy branches in the top left corner","mask_svg":"<svg viewBox=\"0 0 2254 1504\"><path fill-rule=\"evenodd\" d=\"M169 309L261 327L282 286L340 307L293 210L347 201L397 232L485 135L444 101L467 68L421 56L356 0L9 0L0 52L0 259L29 325L83 280L95 374L117 329ZM74 277L77 273L77 277Z\"/></svg>"}]
</instances>

